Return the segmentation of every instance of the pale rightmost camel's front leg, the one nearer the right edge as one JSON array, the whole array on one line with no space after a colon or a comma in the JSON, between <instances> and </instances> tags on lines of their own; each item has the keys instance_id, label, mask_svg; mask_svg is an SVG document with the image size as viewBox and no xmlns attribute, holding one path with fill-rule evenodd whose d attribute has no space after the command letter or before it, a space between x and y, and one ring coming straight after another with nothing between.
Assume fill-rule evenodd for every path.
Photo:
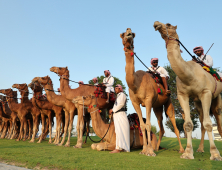
<instances>
[{"instance_id":1,"label":"pale rightmost camel's front leg, the one nearer the right edge","mask_svg":"<svg viewBox=\"0 0 222 170\"><path fill-rule=\"evenodd\" d=\"M203 91L202 95L200 96L200 101L202 103L202 108L203 108L203 125L209 137L210 153L211 153L210 160L222 161L222 157L220 156L220 152L216 148L216 145L214 143L213 136L212 136L213 127L212 127L212 122L210 120L210 115L209 115L211 98L212 98L211 91L207 91L207 90Z\"/></svg>"}]
</instances>

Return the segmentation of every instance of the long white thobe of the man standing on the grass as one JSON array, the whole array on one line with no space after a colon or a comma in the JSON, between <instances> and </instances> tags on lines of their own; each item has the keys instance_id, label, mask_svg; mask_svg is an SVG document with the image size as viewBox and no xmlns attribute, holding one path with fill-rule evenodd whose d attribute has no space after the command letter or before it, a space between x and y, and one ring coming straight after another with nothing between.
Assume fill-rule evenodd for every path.
<instances>
[{"instance_id":1,"label":"long white thobe of the man standing on the grass","mask_svg":"<svg viewBox=\"0 0 222 170\"><path fill-rule=\"evenodd\" d=\"M126 105L126 95L123 92L117 94L113 106L113 120L116 132L116 149L124 149L130 152L130 126L125 111L120 111Z\"/></svg>"}]
</instances>

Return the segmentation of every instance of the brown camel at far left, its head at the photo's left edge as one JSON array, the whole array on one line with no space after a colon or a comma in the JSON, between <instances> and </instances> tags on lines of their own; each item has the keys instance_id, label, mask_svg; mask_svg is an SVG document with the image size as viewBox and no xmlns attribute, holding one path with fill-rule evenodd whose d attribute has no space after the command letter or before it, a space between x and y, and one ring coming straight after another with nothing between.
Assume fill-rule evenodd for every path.
<instances>
[{"instance_id":1,"label":"brown camel at far left, its head at the photo's left edge","mask_svg":"<svg viewBox=\"0 0 222 170\"><path fill-rule=\"evenodd\" d=\"M0 90L0 93L7 95L8 106L10 107L11 118L12 118L11 133L13 133L13 134L10 139L14 139L16 137L17 127L18 126L20 127L20 121L18 121L18 116L17 116L17 113L19 110L18 100L17 100L17 91L13 91L12 89L6 89L6 90ZM13 103L13 106L11 105L11 102ZM11 108L11 107L13 107L13 108Z\"/></svg>"}]
</instances>

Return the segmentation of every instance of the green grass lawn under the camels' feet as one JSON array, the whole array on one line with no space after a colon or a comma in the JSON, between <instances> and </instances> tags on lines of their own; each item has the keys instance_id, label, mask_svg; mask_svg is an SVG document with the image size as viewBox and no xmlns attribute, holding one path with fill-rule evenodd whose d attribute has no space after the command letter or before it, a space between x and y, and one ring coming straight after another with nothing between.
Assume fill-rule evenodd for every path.
<instances>
[{"instance_id":1,"label":"green grass lawn under the camels' feet","mask_svg":"<svg viewBox=\"0 0 222 170\"><path fill-rule=\"evenodd\" d=\"M99 139L93 137L93 139ZM181 139L183 147L186 139ZM193 140L194 151L200 140ZM222 154L222 142L215 141ZM71 145L76 144L76 138L71 139ZM222 162L210 161L209 141L204 142L205 153L194 152L194 160L180 159L177 139L164 137L161 146L167 150L160 150L156 157L140 155L139 150L130 153L109 154L109 151L94 151L91 141L83 144L83 148L65 148L48 144L28 143L14 140L0 139L0 159L8 162L21 163L28 168L47 167L48 169L222 169Z\"/></svg>"}]
</instances>

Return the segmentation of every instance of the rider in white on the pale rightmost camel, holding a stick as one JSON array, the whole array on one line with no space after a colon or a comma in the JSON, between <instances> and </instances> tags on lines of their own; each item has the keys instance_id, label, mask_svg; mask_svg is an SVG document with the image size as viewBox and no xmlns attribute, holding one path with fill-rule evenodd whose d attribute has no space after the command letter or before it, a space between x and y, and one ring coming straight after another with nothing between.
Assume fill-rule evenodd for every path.
<instances>
[{"instance_id":1,"label":"rider in white on the pale rightmost camel, holding a stick","mask_svg":"<svg viewBox=\"0 0 222 170\"><path fill-rule=\"evenodd\" d=\"M207 67L213 67L213 58L210 55L204 55L204 49L202 46L195 47L193 52L198 56L198 59L203 62ZM220 77L222 77L222 73L217 71Z\"/></svg>"}]
</instances>

